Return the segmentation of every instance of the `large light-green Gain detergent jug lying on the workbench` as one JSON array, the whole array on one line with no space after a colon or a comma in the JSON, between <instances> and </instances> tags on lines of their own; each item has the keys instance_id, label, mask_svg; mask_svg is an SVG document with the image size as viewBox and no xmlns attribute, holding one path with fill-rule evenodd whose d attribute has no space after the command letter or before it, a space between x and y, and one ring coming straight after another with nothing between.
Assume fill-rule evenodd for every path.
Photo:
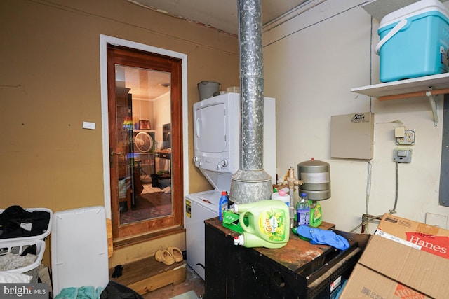
<instances>
[{"instance_id":1,"label":"large light-green Gain detergent jug lying on the workbench","mask_svg":"<svg viewBox=\"0 0 449 299\"><path fill-rule=\"evenodd\" d=\"M234 204L243 232L234 238L235 245L281 248L290 237L290 211L279 200L262 200L250 204ZM243 221L245 218L245 221Z\"/></svg>"}]
</instances>

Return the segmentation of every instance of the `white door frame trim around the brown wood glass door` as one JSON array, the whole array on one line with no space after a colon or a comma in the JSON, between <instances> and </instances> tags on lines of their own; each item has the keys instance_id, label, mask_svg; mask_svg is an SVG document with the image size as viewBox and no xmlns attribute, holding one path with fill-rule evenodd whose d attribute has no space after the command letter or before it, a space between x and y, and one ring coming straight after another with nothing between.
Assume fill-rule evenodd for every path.
<instances>
[{"instance_id":1,"label":"white door frame trim around the brown wood glass door","mask_svg":"<svg viewBox=\"0 0 449 299\"><path fill-rule=\"evenodd\" d=\"M165 50L161 48L155 48L152 46L147 46L141 43L134 43L132 41L126 41L123 39L117 39L111 36L105 36L100 34L100 76L101 76L101 98L102 98L102 141L103 141L103 181L104 181L104 192L105 192L105 209L107 218L112 218L112 206L111 206L111 190L109 186L109 116L108 116L108 90L107 90L107 43L112 43L114 45L124 46L126 48L133 48L137 50L142 50L149 53L155 53L159 55L165 55L169 57L178 58L181 62L181 74L180 74L180 86L181 90L181 103L178 106L178 112L182 115L182 123L180 125L180 134L182 134L182 156L180 160L177 161L178 165L183 165L183 172L180 174L180 179L182 181L182 190L178 190L177 202L180 207L180 218L178 218L173 223L180 223L180 226L184 226L184 198L188 194L189 188L189 163L188 163L188 120L187 120L187 55L182 53L175 53L170 50ZM180 121L180 120L177 120ZM182 197L182 198L181 198ZM175 195L173 195L173 200L175 200ZM151 224L150 224L151 226Z\"/></svg>"}]
</instances>

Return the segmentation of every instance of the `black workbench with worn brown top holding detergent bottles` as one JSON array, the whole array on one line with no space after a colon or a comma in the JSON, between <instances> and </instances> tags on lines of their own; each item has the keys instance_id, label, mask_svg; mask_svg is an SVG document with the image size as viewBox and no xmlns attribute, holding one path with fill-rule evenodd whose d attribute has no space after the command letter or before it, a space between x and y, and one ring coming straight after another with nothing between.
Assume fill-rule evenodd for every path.
<instances>
[{"instance_id":1,"label":"black workbench with worn brown top holding detergent bottles","mask_svg":"<svg viewBox=\"0 0 449 299\"><path fill-rule=\"evenodd\" d=\"M205 221L205 232L206 298L214 299L329 298L329 285L349 277L360 251L354 242L341 252L291 232L280 249L235 246L239 233L224 228L218 218Z\"/></svg>"}]
</instances>

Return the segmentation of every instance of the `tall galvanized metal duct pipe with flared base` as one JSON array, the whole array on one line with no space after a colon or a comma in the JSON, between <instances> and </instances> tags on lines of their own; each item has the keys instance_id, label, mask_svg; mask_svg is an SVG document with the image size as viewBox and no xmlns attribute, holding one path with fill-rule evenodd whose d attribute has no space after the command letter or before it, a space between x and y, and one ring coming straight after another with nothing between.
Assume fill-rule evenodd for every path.
<instances>
[{"instance_id":1,"label":"tall galvanized metal duct pipe with flared base","mask_svg":"<svg viewBox=\"0 0 449 299\"><path fill-rule=\"evenodd\" d=\"M241 90L240 169L229 197L244 204L268 200L271 176L263 169L264 78L260 0L238 0Z\"/></svg>"}]
</instances>

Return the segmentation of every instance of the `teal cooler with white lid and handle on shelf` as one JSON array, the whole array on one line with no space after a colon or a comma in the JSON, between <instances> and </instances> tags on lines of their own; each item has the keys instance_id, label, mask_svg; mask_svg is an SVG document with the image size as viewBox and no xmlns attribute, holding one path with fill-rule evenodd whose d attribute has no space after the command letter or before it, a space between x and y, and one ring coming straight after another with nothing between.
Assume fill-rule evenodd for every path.
<instances>
[{"instance_id":1,"label":"teal cooler with white lid and handle on shelf","mask_svg":"<svg viewBox=\"0 0 449 299\"><path fill-rule=\"evenodd\" d=\"M377 34L380 81L390 82L448 71L448 9L421 0L385 15Z\"/></svg>"}]
</instances>

